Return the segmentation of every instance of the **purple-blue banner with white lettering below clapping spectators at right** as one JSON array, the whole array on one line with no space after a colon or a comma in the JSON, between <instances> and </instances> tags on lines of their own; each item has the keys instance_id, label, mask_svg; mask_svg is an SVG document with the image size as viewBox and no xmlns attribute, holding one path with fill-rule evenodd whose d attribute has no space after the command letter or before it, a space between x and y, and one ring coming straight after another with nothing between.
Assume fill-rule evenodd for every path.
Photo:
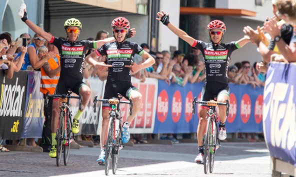
<instances>
[{"instance_id":1,"label":"purple-blue banner with white lettering below clapping spectators at right","mask_svg":"<svg viewBox=\"0 0 296 177\"><path fill-rule=\"evenodd\" d=\"M270 156L296 166L296 65L272 62L264 87L263 130Z\"/></svg>"}]
</instances>

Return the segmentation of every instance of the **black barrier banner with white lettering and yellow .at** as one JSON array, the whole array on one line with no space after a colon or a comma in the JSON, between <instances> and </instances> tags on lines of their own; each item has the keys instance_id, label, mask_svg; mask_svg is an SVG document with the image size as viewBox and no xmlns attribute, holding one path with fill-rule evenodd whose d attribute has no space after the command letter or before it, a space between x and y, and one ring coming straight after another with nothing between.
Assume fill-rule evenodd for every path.
<instances>
[{"instance_id":1,"label":"black barrier banner with white lettering and yellow .at","mask_svg":"<svg viewBox=\"0 0 296 177\"><path fill-rule=\"evenodd\" d=\"M12 79L4 77L0 69L0 138L20 139L25 112L27 72L14 72Z\"/></svg>"}]
</instances>

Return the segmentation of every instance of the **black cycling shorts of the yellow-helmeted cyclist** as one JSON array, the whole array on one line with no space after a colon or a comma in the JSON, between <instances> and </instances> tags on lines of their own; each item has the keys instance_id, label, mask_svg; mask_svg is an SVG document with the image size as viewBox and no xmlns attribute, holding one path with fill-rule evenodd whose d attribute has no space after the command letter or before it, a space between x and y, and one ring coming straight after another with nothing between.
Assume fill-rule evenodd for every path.
<instances>
[{"instance_id":1,"label":"black cycling shorts of the yellow-helmeted cyclist","mask_svg":"<svg viewBox=\"0 0 296 177\"><path fill-rule=\"evenodd\" d=\"M60 76L54 91L54 94L67 94L68 88L73 93L79 95L79 89L82 85L86 85L80 78L73 76Z\"/></svg>"}]
</instances>

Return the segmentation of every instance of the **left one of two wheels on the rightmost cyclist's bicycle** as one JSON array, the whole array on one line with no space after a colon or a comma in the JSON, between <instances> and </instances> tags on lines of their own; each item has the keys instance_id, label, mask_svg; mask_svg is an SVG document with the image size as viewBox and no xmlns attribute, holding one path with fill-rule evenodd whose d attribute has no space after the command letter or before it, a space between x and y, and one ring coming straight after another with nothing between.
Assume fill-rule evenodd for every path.
<instances>
[{"instance_id":1,"label":"left one of two wheels on the rightmost cyclist's bicycle","mask_svg":"<svg viewBox=\"0 0 296 177\"><path fill-rule=\"evenodd\" d=\"M208 170L209 154L210 154L210 134L211 134L211 123L210 117L207 120L206 133L203 140L203 172L206 174Z\"/></svg>"}]
</instances>

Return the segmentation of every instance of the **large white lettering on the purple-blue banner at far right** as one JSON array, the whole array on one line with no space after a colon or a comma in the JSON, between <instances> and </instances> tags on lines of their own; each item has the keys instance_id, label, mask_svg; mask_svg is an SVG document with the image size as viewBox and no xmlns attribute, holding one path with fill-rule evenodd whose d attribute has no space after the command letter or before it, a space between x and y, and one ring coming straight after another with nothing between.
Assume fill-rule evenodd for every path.
<instances>
[{"instance_id":1,"label":"large white lettering on the purple-blue banner at far right","mask_svg":"<svg viewBox=\"0 0 296 177\"><path fill-rule=\"evenodd\" d=\"M270 141L272 146L291 150L296 147L296 107L294 100L294 87L288 83L273 83L271 78L266 80L264 88L263 121L270 121ZM289 92L287 90L290 90ZM282 102L287 98L287 102ZM269 114L269 120L267 115ZM266 133L266 128L263 126Z\"/></svg>"}]
</instances>

